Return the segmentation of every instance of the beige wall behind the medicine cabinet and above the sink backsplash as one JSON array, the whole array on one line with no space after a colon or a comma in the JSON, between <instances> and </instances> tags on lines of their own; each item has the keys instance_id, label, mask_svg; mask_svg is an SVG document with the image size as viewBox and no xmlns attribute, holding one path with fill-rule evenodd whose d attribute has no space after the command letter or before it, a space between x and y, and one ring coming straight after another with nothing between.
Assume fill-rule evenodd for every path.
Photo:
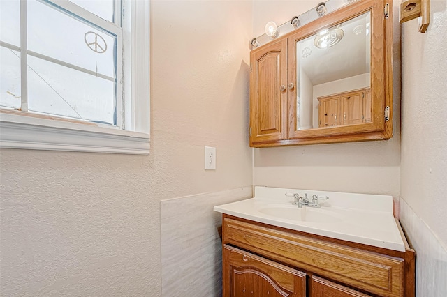
<instances>
[{"instance_id":1,"label":"beige wall behind the medicine cabinet and above the sink backsplash","mask_svg":"<svg viewBox=\"0 0 447 297\"><path fill-rule=\"evenodd\" d=\"M318 4L254 1L254 35L268 20L283 24ZM396 16L397 18L397 16ZM393 138L381 142L256 148L254 185L400 195L400 25L395 20Z\"/></svg>"}]
</instances>

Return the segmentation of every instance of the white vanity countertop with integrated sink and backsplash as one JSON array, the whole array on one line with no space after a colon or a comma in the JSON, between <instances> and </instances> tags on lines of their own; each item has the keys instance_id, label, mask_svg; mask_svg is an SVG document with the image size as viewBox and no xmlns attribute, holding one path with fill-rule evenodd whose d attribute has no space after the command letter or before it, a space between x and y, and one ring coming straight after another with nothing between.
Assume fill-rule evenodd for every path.
<instances>
[{"instance_id":1,"label":"white vanity countertop with integrated sink and backsplash","mask_svg":"<svg viewBox=\"0 0 447 297\"><path fill-rule=\"evenodd\" d=\"M321 208L298 208L291 204L293 198L287 197L286 192L298 192L300 197L307 193L309 198L323 195L329 199L320 202ZM405 251L393 216L393 197L388 195L256 186L254 198L214 206L214 211L277 227ZM309 221L305 220L306 217Z\"/></svg>"}]
</instances>

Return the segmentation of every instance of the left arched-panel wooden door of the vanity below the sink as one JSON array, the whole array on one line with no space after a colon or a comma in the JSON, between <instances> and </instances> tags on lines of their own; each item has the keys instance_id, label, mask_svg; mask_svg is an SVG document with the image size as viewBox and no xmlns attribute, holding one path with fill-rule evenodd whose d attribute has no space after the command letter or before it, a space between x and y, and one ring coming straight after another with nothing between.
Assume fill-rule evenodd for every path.
<instances>
[{"instance_id":1,"label":"left arched-panel wooden door of the vanity below the sink","mask_svg":"<svg viewBox=\"0 0 447 297\"><path fill-rule=\"evenodd\" d=\"M306 274L249 252L223 246L223 297L305 297Z\"/></svg>"}]
</instances>

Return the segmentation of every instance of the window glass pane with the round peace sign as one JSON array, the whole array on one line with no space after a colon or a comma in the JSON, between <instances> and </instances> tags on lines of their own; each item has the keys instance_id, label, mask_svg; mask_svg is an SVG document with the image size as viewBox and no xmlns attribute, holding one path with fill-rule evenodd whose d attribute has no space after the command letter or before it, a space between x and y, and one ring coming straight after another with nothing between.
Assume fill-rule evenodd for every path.
<instances>
[{"instance_id":1,"label":"window glass pane with the round peace sign","mask_svg":"<svg viewBox=\"0 0 447 297\"><path fill-rule=\"evenodd\" d=\"M52 6L27 3L28 50L115 78L115 36Z\"/></svg>"}]
</instances>

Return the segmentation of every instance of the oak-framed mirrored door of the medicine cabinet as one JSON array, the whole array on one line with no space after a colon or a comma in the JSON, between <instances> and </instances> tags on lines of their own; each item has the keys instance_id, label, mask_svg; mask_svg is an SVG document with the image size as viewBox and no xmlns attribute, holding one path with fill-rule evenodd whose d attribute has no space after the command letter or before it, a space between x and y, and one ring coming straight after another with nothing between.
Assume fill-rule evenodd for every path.
<instances>
[{"instance_id":1,"label":"oak-framed mirrored door of the medicine cabinet","mask_svg":"<svg viewBox=\"0 0 447 297\"><path fill-rule=\"evenodd\" d=\"M359 1L288 37L288 76L295 82L295 94L288 97L288 139L392 136L383 116L392 102L385 32L392 36L393 24L383 15L385 5Z\"/></svg>"}]
</instances>

